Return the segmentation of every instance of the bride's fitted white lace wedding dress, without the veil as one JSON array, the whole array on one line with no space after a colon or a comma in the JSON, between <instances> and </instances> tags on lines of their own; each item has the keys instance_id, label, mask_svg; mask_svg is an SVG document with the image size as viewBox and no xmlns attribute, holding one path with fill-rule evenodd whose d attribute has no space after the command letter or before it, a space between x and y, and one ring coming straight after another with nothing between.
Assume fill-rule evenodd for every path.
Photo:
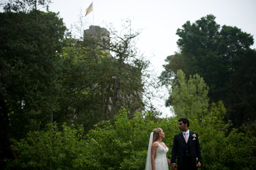
<instances>
[{"instance_id":1,"label":"bride's fitted white lace wedding dress, without the veil","mask_svg":"<svg viewBox=\"0 0 256 170\"><path fill-rule=\"evenodd\" d=\"M157 142L156 142L157 143ZM163 143L163 142L162 142ZM156 148L156 155L155 155L155 170L169 170L166 154L169 151L169 149L164 148L164 146L160 145L159 143L158 147Z\"/></svg>"}]
</instances>

